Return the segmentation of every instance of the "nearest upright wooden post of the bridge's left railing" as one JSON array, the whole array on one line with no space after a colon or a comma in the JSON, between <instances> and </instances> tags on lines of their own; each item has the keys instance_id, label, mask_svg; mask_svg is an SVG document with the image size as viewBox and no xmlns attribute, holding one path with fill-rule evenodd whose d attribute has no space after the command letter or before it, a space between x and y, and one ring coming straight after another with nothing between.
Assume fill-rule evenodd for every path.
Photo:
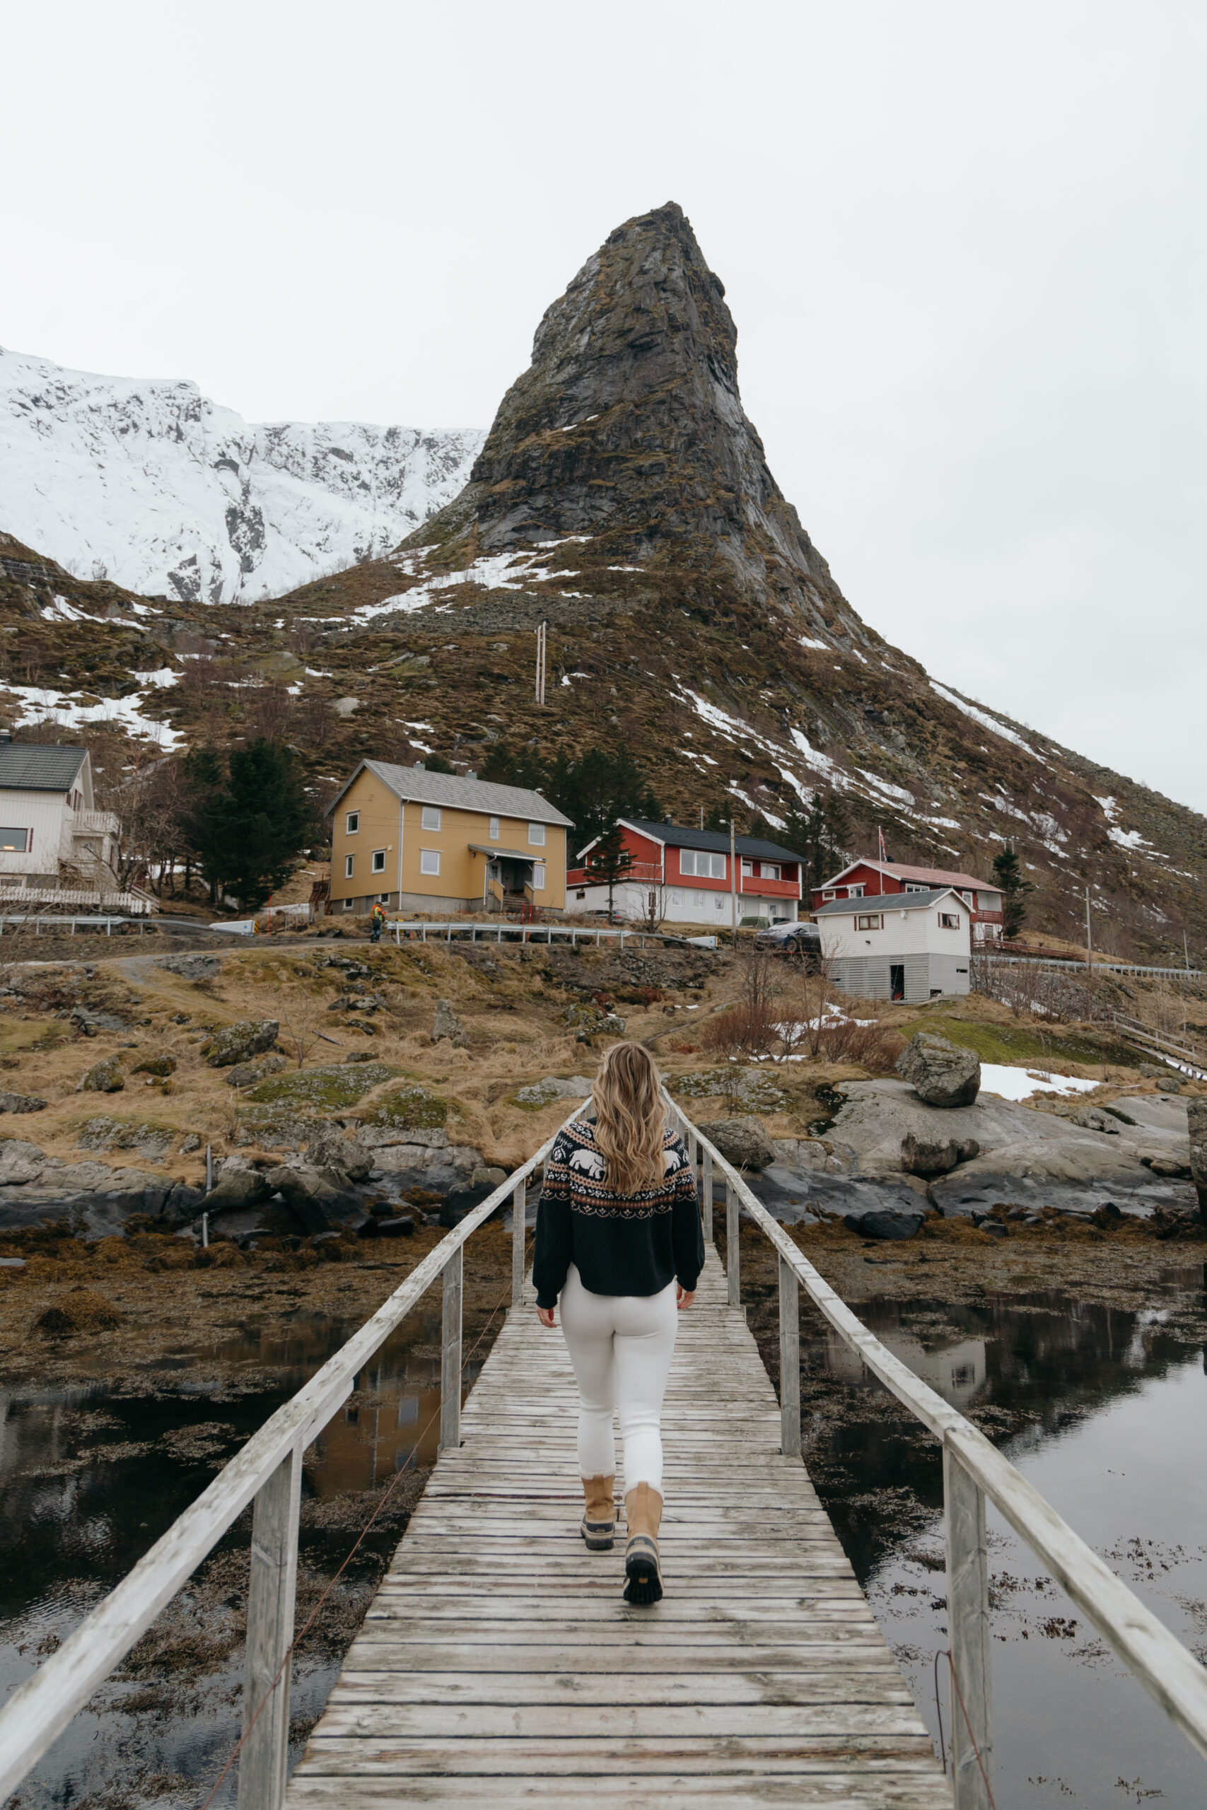
<instances>
[{"instance_id":1,"label":"nearest upright wooden post of the bridge's left railing","mask_svg":"<svg viewBox=\"0 0 1207 1810\"><path fill-rule=\"evenodd\" d=\"M282 1662L293 1643L300 1499L302 1448L295 1446L261 1484L252 1511L239 1810L280 1810L284 1801L290 1754L290 1672L293 1667L290 1662L284 1665ZM277 1672L280 1672L279 1678ZM273 1680L277 1681L273 1683ZM262 1709L261 1703L264 1703ZM255 1718L253 1725L252 1718Z\"/></svg>"}]
</instances>

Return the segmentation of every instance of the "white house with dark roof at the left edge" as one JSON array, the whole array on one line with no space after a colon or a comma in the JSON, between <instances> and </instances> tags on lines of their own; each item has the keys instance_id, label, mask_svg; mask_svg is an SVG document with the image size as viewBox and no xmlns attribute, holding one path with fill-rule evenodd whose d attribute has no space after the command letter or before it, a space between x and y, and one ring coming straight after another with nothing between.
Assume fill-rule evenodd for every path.
<instances>
[{"instance_id":1,"label":"white house with dark roof at the left edge","mask_svg":"<svg viewBox=\"0 0 1207 1810\"><path fill-rule=\"evenodd\" d=\"M98 811L87 748L0 731L0 892L43 905L125 903L119 825Z\"/></svg>"}]
</instances>

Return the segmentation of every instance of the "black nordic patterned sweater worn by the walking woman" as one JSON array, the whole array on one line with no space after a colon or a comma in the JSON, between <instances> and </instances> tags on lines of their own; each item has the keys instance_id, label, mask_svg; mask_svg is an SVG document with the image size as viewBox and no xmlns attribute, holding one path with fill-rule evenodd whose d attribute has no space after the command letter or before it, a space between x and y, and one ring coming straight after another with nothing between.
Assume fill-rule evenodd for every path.
<instances>
[{"instance_id":1,"label":"black nordic patterned sweater worn by the walking woman","mask_svg":"<svg viewBox=\"0 0 1207 1810\"><path fill-rule=\"evenodd\" d=\"M536 1213L537 1307L556 1305L572 1263L590 1294L659 1294L671 1280L695 1289L704 1229L680 1137L668 1129L662 1138L659 1182L613 1195L595 1126L575 1119L557 1133Z\"/></svg>"}]
</instances>

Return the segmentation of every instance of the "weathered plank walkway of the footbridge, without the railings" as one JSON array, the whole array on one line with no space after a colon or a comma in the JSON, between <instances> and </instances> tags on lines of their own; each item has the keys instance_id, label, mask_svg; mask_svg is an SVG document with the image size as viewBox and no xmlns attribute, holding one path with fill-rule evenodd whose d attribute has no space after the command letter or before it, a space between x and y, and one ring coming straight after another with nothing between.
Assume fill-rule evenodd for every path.
<instances>
[{"instance_id":1,"label":"weathered plank walkway of the footbridge, without the railings","mask_svg":"<svg viewBox=\"0 0 1207 1810\"><path fill-rule=\"evenodd\" d=\"M510 1314L382 1580L291 1810L950 1810L910 1692L709 1249L666 1399L666 1595L577 1522L561 1332Z\"/></svg>"}]
</instances>

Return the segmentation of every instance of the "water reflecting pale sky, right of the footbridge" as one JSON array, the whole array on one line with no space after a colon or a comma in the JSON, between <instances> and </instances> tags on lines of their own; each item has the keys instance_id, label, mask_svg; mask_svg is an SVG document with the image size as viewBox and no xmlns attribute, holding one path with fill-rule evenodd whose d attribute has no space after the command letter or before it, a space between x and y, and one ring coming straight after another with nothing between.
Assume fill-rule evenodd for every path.
<instances>
[{"instance_id":1,"label":"water reflecting pale sky, right of the footbridge","mask_svg":"<svg viewBox=\"0 0 1207 1810\"><path fill-rule=\"evenodd\" d=\"M983 1426L1200 1660L1207 1658L1203 1283L1202 1265L1169 1271L1144 1310L1055 1291L860 1310ZM939 1448L899 1419L836 1338L813 1341L805 1372L809 1468L937 1734L934 1654L946 1647ZM1200 1810L1203 1761L993 1510L990 1569L997 1810L1129 1803ZM945 1683L941 1698L950 1729Z\"/></svg>"}]
</instances>

